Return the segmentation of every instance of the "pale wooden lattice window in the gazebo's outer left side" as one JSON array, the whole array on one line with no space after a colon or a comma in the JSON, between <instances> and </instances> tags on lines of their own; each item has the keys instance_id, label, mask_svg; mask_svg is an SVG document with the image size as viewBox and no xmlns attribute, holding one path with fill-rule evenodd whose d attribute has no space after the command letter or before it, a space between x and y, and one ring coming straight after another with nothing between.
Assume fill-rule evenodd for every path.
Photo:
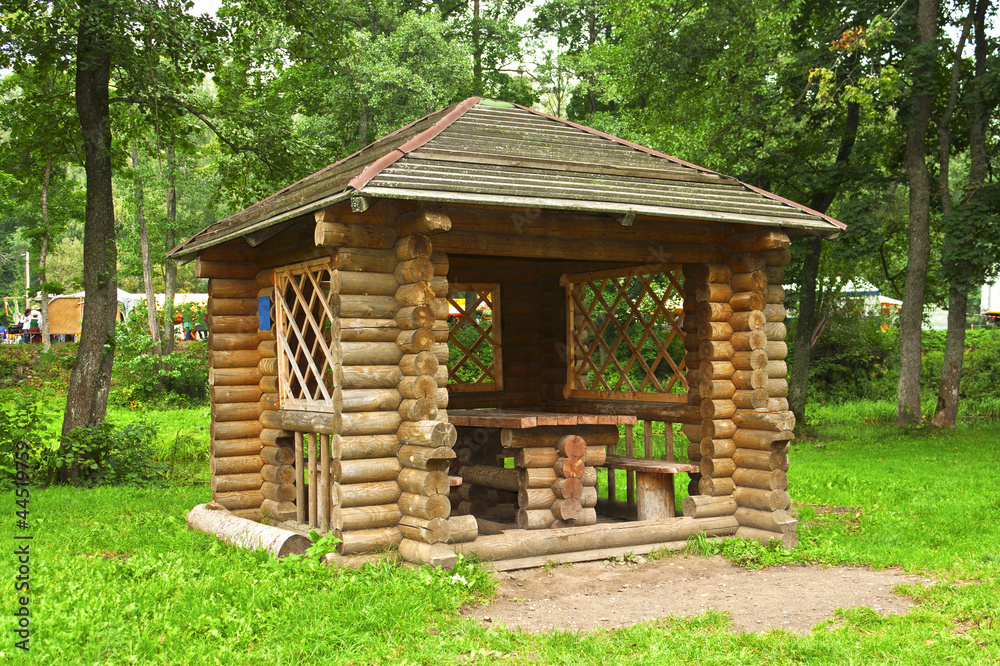
<instances>
[{"instance_id":1,"label":"pale wooden lattice window in the gazebo's outer left side","mask_svg":"<svg viewBox=\"0 0 1000 666\"><path fill-rule=\"evenodd\" d=\"M274 272L278 396L282 409L336 411L339 364L337 314L332 306L330 259Z\"/></svg>"}]
</instances>

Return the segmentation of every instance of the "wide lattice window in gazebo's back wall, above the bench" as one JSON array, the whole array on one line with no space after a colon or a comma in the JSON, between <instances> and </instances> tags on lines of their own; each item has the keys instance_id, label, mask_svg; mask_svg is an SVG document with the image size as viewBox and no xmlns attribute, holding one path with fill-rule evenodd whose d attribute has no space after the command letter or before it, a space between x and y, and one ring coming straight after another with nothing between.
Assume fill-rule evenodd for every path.
<instances>
[{"instance_id":1,"label":"wide lattice window in gazebo's back wall, above the bench","mask_svg":"<svg viewBox=\"0 0 1000 666\"><path fill-rule=\"evenodd\" d=\"M564 275L570 397L682 402L680 266Z\"/></svg>"}]
</instances>

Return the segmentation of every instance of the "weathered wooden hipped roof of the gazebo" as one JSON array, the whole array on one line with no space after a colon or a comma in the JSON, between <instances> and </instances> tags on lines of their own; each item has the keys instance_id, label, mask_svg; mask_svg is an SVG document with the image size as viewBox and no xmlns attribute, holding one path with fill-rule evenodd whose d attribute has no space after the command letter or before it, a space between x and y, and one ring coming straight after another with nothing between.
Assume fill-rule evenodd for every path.
<instances>
[{"instance_id":1,"label":"weathered wooden hipped roof of the gazebo","mask_svg":"<svg viewBox=\"0 0 1000 666\"><path fill-rule=\"evenodd\" d=\"M532 109L469 98L429 114L174 248L176 258L354 196L798 228L843 224L669 155Z\"/></svg>"}]
</instances>

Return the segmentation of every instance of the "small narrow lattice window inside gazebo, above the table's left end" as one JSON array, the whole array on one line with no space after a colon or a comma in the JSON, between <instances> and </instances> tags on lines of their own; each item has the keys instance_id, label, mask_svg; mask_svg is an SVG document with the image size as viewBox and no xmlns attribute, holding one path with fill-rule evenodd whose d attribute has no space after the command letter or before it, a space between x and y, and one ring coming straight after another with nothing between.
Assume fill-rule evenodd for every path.
<instances>
[{"instance_id":1,"label":"small narrow lattice window inside gazebo, above the table's left end","mask_svg":"<svg viewBox=\"0 0 1000 666\"><path fill-rule=\"evenodd\" d=\"M448 388L503 389L498 284L449 285Z\"/></svg>"}]
</instances>

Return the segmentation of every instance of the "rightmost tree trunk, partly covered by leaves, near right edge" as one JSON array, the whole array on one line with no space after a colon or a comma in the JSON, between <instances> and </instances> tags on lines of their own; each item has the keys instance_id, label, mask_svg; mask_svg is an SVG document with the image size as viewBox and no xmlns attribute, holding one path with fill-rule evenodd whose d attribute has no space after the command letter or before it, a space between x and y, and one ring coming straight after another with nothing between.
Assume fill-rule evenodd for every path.
<instances>
[{"instance_id":1,"label":"rightmost tree trunk, partly covered by leaves, near right edge","mask_svg":"<svg viewBox=\"0 0 1000 666\"><path fill-rule=\"evenodd\" d=\"M969 19L975 6L970 10ZM955 111L955 103L958 100L958 82L962 73L962 51L965 48L965 40L969 35L969 23L966 20L962 27L962 36L955 47L955 56L952 60L951 68L951 88L948 92L948 106L945 108L938 123L938 144L939 160L941 172L938 177L938 194L941 198L941 213L948 217L952 212L951 205L951 120ZM944 244L946 248L953 247L956 243L950 234L945 235ZM964 263L964 262L958 262ZM961 270L963 266L952 265L951 271ZM968 266L964 268L968 269ZM963 271L963 272L967 272ZM956 276L952 276L948 288L948 333L945 337L944 359L941 364L941 383L938 385L937 409L931 425L935 428L954 428L958 418L958 389L962 382L962 361L965 355L965 310L968 304L968 294L963 289L961 282Z\"/></svg>"}]
</instances>

